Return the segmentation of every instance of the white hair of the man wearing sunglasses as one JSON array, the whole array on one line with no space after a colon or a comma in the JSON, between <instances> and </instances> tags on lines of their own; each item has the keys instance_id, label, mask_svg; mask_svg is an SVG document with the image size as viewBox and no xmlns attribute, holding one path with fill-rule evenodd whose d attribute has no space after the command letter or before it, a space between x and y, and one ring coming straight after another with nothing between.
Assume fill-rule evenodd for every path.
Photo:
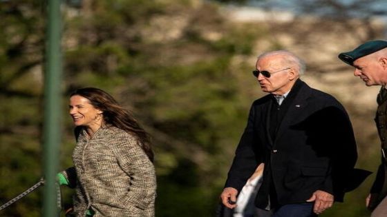
<instances>
[{"instance_id":1,"label":"white hair of the man wearing sunglasses","mask_svg":"<svg viewBox=\"0 0 387 217\"><path fill-rule=\"evenodd\" d=\"M293 54L290 51L287 50L275 50L270 52L264 52L263 54L258 56L259 59L262 59L267 56L276 56L279 55L282 57L283 63L285 65L289 65L291 67L296 68L296 70L299 71L299 74L304 74L306 70L306 65L303 59L299 58L299 56L296 56L296 54Z\"/></svg>"}]
</instances>

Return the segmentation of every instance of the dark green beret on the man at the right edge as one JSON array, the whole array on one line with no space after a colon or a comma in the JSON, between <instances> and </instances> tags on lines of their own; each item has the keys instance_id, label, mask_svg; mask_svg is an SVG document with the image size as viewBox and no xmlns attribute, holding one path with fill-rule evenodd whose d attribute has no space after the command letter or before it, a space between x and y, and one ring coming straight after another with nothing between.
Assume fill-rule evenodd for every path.
<instances>
[{"instance_id":1,"label":"dark green beret on the man at the right edge","mask_svg":"<svg viewBox=\"0 0 387 217\"><path fill-rule=\"evenodd\" d=\"M372 54L383 48L387 48L387 41L367 41L355 48L355 50L339 54L339 59L348 65L353 65L353 62L360 57L367 56L368 54Z\"/></svg>"}]
</instances>

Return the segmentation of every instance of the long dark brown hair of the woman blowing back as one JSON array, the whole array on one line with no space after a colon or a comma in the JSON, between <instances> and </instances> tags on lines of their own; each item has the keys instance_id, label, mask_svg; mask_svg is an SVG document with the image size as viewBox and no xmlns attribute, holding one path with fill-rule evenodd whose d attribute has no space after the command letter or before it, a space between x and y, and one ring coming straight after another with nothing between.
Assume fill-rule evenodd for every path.
<instances>
[{"instance_id":1,"label":"long dark brown hair of the woman blowing back","mask_svg":"<svg viewBox=\"0 0 387 217\"><path fill-rule=\"evenodd\" d=\"M70 96L79 95L88 99L96 109L101 110L104 115L104 123L120 128L140 141L141 148L153 162L153 151L150 136L138 124L131 112L121 107L110 94L95 87L86 87L75 90ZM77 131L77 130L76 130Z\"/></svg>"}]
</instances>

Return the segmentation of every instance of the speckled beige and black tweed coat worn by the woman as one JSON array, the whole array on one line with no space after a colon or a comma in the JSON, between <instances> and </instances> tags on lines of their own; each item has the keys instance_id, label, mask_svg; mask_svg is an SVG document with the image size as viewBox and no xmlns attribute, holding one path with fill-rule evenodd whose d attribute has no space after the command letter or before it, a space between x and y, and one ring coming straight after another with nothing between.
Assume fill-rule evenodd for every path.
<instances>
[{"instance_id":1,"label":"speckled beige and black tweed coat worn by the woman","mask_svg":"<svg viewBox=\"0 0 387 217\"><path fill-rule=\"evenodd\" d=\"M74 167L63 172L75 187L74 212L86 216L154 216L155 169L137 138L117 127L77 136Z\"/></svg>"}]
</instances>

